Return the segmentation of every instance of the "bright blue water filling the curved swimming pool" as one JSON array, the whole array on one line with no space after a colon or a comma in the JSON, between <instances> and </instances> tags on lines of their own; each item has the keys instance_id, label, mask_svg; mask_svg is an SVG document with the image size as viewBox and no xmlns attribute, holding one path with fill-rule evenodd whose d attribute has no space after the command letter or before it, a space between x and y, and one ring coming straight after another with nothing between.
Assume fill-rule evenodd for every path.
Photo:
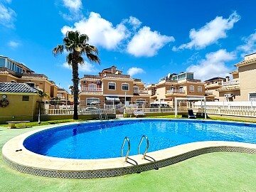
<instances>
[{"instance_id":1,"label":"bright blue water filling the curved swimming pool","mask_svg":"<svg viewBox=\"0 0 256 192\"><path fill-rule=\"evenodd\" d=\"M129 137L131 151L146 135L149 151L201 141L231 141L256 143L256 125L208 122L185 119L131 119L80 123L46 129L26 138L26 149L45 156L68 159L105 159L119 157L124 137ZM146 141L140 151L144 152ZM124 145L124 155L127 144Z\"/></svg>"}]
</instances>

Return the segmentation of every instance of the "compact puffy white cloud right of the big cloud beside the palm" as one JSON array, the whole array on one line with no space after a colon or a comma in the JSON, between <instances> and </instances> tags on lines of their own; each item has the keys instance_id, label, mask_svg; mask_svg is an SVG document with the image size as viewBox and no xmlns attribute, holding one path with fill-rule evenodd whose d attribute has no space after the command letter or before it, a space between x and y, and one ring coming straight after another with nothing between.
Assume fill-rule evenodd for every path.
<instances>
[{"instance_id":1,"label":"compact puffy white cloud right of the big cloud beside the palm","mask_svg":"<svg viewBox=\"0 0 256 192\"><path fill-rule=\"evenodd\" d=\"M128 43L127 52L136 57L151 57L156 55L160 48L171 41L175 41L174 37L161 36L159 32L151 31L149 27L144 26Z\"/></svg>"}]
</instances>

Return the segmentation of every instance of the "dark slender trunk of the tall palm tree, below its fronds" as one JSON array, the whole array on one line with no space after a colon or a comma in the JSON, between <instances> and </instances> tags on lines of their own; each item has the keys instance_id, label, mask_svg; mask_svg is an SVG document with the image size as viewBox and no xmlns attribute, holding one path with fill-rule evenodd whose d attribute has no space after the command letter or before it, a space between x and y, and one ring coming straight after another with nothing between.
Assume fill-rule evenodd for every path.
<instances>
[{"instance_id":1,"label":"dark slender trunk of the tall palm tree, below its fronds","mask_svg":"<svg viewBox=\"0 0 256 192\"><path fill-rule=\"evenodd\" d=\"M73 119L78 119L78 63L72 63L73 68L73 86L74 86L74 114Z\"/></svg>"}]
</instances>

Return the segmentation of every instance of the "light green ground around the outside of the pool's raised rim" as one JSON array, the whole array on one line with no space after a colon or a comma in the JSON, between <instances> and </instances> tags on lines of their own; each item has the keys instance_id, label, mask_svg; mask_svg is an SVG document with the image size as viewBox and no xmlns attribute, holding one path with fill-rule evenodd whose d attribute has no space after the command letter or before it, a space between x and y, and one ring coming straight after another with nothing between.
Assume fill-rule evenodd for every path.
<instances>
[{"instance_id":1,"label":"light green ground around the outside of the pool's raised rim","mask_svg":"<svg viewBox=\"0 0 256 192\"><path fill-rule=\"evenodd\" d=\"M6 127L0 127L0 148L9 139L39 128L6 129ZM141 174L80 180L22 174L11 169L4 164L3 159L0 159L0 191L3 192L256 191L255 180L255 154L229 152L203 154L178 164Z\"/></svg>"}]
</instances>

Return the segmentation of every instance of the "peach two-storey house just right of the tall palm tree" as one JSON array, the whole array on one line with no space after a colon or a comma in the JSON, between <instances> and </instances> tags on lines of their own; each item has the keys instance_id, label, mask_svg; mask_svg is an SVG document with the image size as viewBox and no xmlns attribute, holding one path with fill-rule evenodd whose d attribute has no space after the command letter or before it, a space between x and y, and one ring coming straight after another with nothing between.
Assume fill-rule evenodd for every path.
<instances>
[{"instance_id":1,"label":"peach two-storey house just right of the tall palm tree","mask_svg":"<svg viewBox=\"0 0 256 192\"><path fill-rule=\"evenodd\" d=\"M99 75L84 75L80 79L80 106L106 105L149 107L149 94L140 79L123 75L112 66Z\"/></svg>"}]
</instances>

